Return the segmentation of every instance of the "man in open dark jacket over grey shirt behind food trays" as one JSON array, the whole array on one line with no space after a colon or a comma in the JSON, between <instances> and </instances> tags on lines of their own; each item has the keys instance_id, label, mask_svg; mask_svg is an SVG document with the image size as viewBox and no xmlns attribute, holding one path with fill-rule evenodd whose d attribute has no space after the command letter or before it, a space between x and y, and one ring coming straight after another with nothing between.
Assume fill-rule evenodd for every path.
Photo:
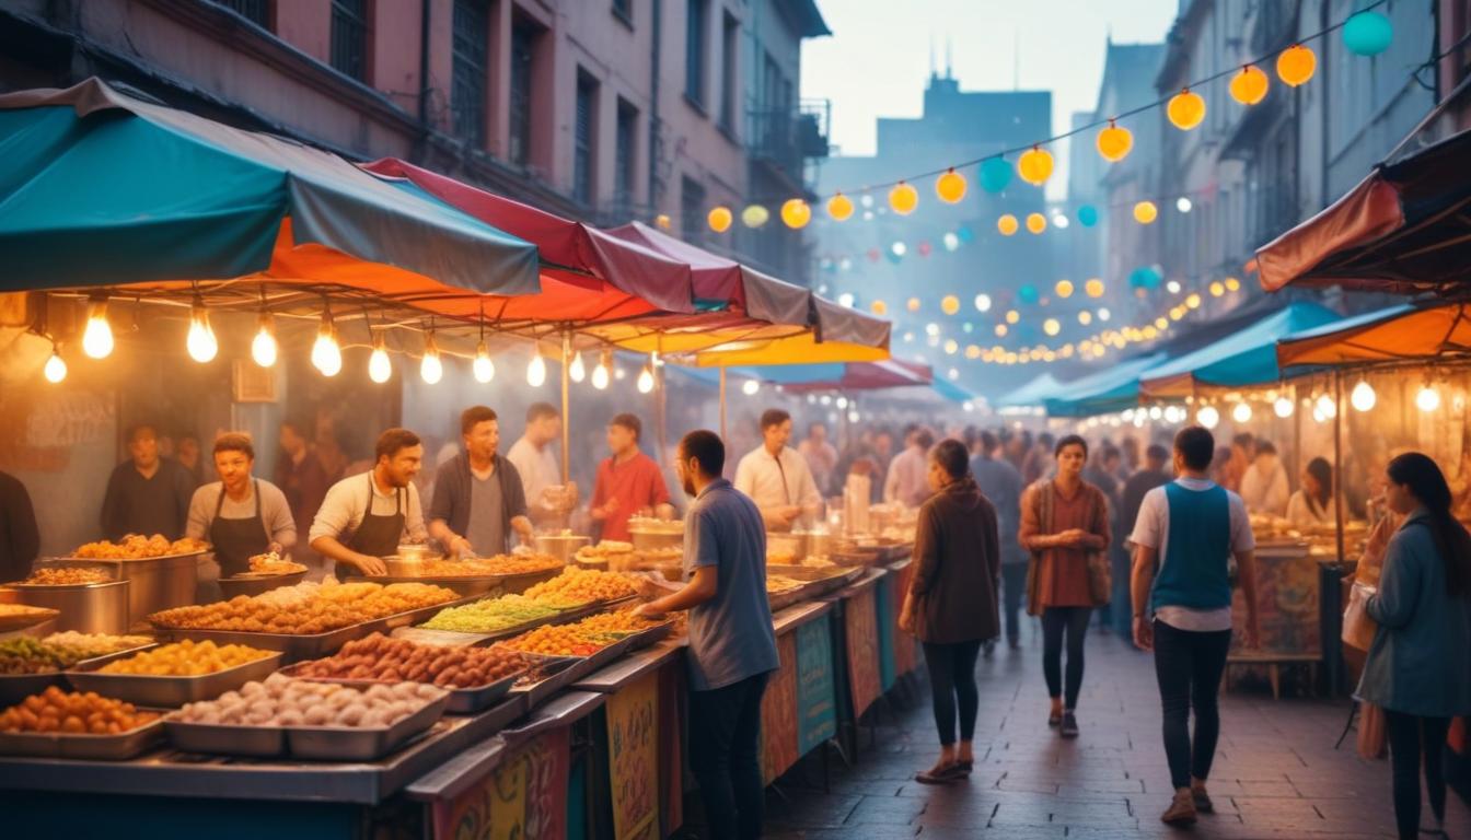
<instances>
[{"instance_id":1,"label":"man in open dark jacket over grey shirt behind food trays","mask_svg":"<svg viewBox=\"0 0 1471 840\"><path fill-rule=\"evenodd\" d=\"M430 535L450 555L502 555L510 533L531 541L521 472L497 458L500 421L487 406L460 413L465 452L440 465L430 502Z\"/></svg>"}]
</instances>

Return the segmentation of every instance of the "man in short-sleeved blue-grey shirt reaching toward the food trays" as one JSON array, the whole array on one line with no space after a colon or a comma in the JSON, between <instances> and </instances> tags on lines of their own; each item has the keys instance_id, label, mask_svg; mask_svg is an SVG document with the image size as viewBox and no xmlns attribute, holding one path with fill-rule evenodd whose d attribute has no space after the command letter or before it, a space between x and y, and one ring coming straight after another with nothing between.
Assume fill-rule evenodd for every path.
<instances>
[{"instance_id":1,"label":"man in short-sleeved blue-grey shirt reaching toward the food trays","mask_svg":"<svg viewBox=\"0 0 1471 840\"><path fill-rule=\"evenodd\" d=\"M766 527L756 503L721 478L712 431L680 441L675 471L694 499L684 521L683 588L638 608L690 611L690 765L710 836L761 837L761 697L781 662L766 599Z\"/></svg>"}]
</instances>

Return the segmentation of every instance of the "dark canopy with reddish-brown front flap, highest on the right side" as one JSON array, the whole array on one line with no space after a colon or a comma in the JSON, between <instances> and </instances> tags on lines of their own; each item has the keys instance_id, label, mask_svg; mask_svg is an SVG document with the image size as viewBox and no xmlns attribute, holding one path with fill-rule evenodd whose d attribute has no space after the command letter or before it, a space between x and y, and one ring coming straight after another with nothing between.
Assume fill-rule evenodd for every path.
<instances>
[{"instance_id":1,"label":"dark canopy with reddish-brown front flap, highest on the right side","mask_svg":"<svg viewBox=\"0 0 1471 840\"><path fill-rule=\"evenodd\" d=\"M1464 290L1471 265L1471 131L1380 163L1330 207L1256 252L1262 288Z\"/></svg>"}]
</instances>

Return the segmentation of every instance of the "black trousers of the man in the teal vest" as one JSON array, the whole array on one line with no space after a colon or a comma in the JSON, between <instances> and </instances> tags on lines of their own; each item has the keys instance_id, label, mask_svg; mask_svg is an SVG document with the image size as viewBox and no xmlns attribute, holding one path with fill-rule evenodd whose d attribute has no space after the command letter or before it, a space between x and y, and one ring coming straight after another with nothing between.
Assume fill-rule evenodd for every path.
<instances>
[{"instance_id":1,"label":"black trousers of the man in the teal vest","mask_svg":"<svg viewBox=\"0 0 1471 840\"><path fill-rule=\"evenodd\" d=\"M1169 784L1190 787L1190 777L1211 775L1215 743L1221 738L1221 675L1231 650L1231 631L1193 633L1155 619L1155 677L1165 712L1165 758ZM1196 713L1190 743L1190 709Z\"/></svg>"}]
</instances>

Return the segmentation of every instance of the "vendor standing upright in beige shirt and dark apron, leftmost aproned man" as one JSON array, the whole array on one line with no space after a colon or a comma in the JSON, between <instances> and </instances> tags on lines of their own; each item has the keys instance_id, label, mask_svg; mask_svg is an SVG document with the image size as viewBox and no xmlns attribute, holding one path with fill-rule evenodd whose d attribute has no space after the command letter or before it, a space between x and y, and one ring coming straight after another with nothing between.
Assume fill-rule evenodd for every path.
<instances>
[{"instance_id":1,"label":"vendor standing upright in beige shirt and dark apron, leftmost aproned man","mask_svg":"<svg viewBox=\"0 0 1471 840\"><path fill-rule=\"evenodd\" d=\"M250 558L284 553L296 544L296 521L285 493L252 475L256 447L250 435L228 431L215 438L219 481L194 491L184 535L215 547L219 577L250 571Z\"/></svg>"}]
</instances>

